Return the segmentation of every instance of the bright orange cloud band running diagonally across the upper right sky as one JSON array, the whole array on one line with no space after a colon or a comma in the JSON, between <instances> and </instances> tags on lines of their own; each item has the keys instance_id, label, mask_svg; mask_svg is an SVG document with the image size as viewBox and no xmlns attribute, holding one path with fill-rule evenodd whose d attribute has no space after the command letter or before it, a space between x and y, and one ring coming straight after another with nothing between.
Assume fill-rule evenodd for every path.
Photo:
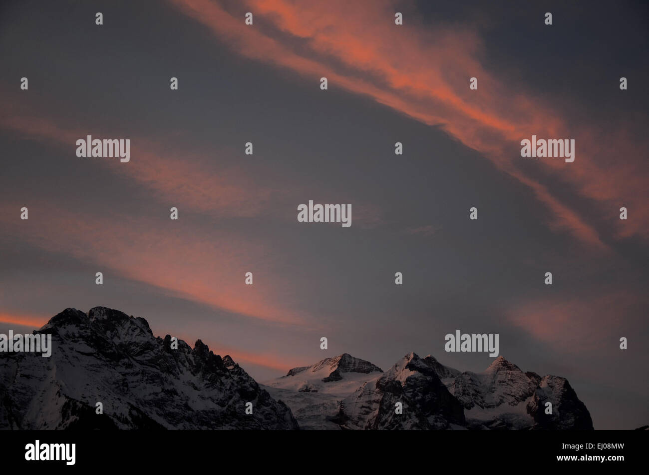
<instances>
[{"instance_id":1,"label":"bright orange cloud band running diagonally across the upper right sky","mask_svg":"<svg viewBox=\"0 0 649 475\"><path fill-rule=\"evenodd\" d=\"M607 249L596 223L553 195L543 184L548 180L594 201L609 227L619 224L610 210L633 209L635 219L622 229L618 226L611 232L614 237L649 237L646 169L613 160L621 150L624 156L640 156L646 143L631 145L613 132L607 135L615 141L602 146L607 142L600 128L572 127L545 103L511 91L478 61L482 45L474 32L458 25L452 29L435 25L432 31L415 25L396 27L387 0L369 5L247 0L243 11L253 12L257 19L252 27L245 25L243 13L230 13L214 1L170 2L241 55L310 77L314 88L317 79L326 76L332 90L369 95L423 123L443 127L530 187L552 212L550 225L555 230L570 232L595 249ZM470 77L478 77L479 91L469 90ZM519 144L532 134L575 138L576 162L541 159L533 171L523 171L521 165L530 159L520 157Z\"/></svg>"}]
</instances>

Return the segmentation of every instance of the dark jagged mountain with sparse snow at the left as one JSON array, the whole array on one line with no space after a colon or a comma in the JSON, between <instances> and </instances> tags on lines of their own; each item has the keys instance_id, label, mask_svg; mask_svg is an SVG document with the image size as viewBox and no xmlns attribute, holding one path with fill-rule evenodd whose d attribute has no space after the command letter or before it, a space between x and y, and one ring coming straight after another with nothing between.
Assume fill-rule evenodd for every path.
<instances>
[{"instance_id":1,"label":"dark jagged mountain with sparse snow at the left","mask_svg":"<svg viewBox=\"0 0 649 475\"><path fill-rule=\"evenodd\" d=\"M143 318L68 308L38 333L52 334L50 358L0 353L0 429L298 428L232 358L201 340L172 349Z\"/></svg>"}]
</instances>

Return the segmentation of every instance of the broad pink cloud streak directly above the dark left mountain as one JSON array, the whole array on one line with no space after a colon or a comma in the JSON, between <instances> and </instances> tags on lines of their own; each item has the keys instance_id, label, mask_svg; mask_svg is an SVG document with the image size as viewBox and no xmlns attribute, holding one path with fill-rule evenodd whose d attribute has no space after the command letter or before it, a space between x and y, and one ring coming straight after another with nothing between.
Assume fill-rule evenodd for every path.
<instances>
[{"instance_id":1,"label":"broad pink cloud streak directly above the dark left mountain","mask_svg":"<svg viewBox=\"0 0 649 475\"><path fill-rule=\"evenodd\" d=\"M174 227L174 222L144 218L79 215L43 202L32 205L39 210L38 219L16 228L9 216L16 216L17 206L0 206L8 234L96 263L104 280L117 274L218 310L279 324L305 321L288 303L295 286L273 271L269 253L253 239L217 230L206 235L187 223ZM252 286L244 282L248 271Z\"/></svg>"}]
</instances>

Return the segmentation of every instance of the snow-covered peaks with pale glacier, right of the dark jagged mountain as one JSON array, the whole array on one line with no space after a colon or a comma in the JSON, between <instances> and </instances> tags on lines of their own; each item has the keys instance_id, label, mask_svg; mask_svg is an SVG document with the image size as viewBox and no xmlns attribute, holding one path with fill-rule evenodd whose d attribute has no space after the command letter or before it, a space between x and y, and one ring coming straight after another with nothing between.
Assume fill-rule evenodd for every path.
<instances>
[{"instance_id":1,"label":"snow-covered peaks with pale glacier, right of the dark jagged mountain","mask_svg":"<svg viewBox=\"0 0 649 475\"><path fill-rule=\"evenodd\" d=\"M373 371L339 371L332 361L341 359L362 361L355 367ZM593 429L588 409L565 378L524 373L502 356L475 373L410 353L382 373L345 354L291 369L267 385L304 429ZM547 402L552 414L546 414Z\"/></svg>"}]
</instances>

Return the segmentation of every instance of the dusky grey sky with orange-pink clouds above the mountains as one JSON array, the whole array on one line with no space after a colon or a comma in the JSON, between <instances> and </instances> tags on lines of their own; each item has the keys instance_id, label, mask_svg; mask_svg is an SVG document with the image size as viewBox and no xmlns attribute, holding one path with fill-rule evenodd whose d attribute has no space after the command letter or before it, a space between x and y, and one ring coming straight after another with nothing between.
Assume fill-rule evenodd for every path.
<instances>
[{"instance_id":1,"label":"dusky grey sky with orange-pink clouds above the mountains","mask_svg":"<svg viewBox=\"0 0 649 475\"><path fill-rule=\"evenodd\" d=\"M444 337L499 334L596 429L648 424L648 19L643 2L5 1L0 332L106 306L258 381L343 352L483 371ZM88 134L128 138L130 161L77 157ZM574 162L522 158L532 134L574 139ZM351 204L351 226L300 223L310 200Z\"/></svg>"}]
</instances>

